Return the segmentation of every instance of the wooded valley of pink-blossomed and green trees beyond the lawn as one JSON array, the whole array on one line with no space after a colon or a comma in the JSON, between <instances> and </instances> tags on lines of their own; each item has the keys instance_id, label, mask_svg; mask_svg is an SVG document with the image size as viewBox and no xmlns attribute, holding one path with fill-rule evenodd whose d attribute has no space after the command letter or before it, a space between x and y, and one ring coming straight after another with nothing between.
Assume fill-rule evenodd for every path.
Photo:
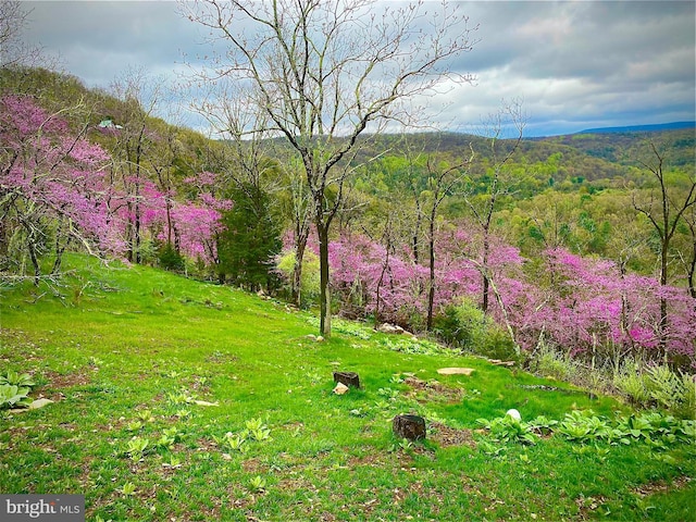
<instances>
[{"instance_id":1,"label":"wooded valley of pink-blossomed and green trees beyond the lawn","mask_svg":"<svg viewBox=\"0 0 696 522\"><path fill-rule=\"evenodd\" d=\"M166 123L136 78L1 75L4 284L86 250L318 303L318 210L284 139ZM369 136L335 165L331 312L492 357L693 370L694 128L525 139L521 113L486 136Z\"/></svg>"}]
</instances>

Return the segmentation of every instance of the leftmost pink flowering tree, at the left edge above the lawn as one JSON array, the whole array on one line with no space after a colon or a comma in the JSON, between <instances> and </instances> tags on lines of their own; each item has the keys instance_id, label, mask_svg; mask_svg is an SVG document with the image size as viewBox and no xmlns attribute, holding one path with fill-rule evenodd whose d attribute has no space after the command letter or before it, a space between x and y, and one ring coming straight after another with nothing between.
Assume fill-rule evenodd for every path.
<instances>
[{"instance_id":1,"label":"leftmost pink flowering tree, at the left edge above the lawn","mask_svg":"<svg viewBox=\"0 0 696 522\"><path fill-rule=\"evenodd\" d=\"M53 272L70 240L90 253L121 253L124 248L117 199L107 183L109 154L73 132L59 113L50 114L32 97L0 99L0 248L5 260L17 243L29 257L34 279L40 258L53 253Z\"/></svg>"}]
</instances>

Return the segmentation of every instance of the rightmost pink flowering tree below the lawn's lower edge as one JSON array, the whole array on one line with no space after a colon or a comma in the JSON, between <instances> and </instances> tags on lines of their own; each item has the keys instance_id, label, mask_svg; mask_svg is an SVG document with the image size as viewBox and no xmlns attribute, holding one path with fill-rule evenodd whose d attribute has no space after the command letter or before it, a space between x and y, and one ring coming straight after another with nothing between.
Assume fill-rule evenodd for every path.
<instances>
[{"instance_id":1,"label":"rightmost pink flowering tree below the lawn's lower edge","mask_svg":"<svg viewBox=\"0 0 696 522\"><path fill-rule=\"evenodd\" d=\"M556 248L545 252L546 298L529 310L526 334L544 335L571 355L619 360L635 355L693 360L696 300L652 277L624 275L612 262ZM664 326L662 303L670 321ZM527 337L529 339L529 337Z\"/></svg>"}]
</instances>

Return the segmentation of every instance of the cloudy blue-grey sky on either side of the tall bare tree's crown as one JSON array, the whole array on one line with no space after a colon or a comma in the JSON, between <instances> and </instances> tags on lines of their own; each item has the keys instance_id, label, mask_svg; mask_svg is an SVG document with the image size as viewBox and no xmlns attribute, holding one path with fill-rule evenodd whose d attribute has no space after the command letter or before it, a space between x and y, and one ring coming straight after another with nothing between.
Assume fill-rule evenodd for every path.
<instances>
[{"instance_id":1,"label":"cloudy blue-grey sky on either side of the tall bare tree's crown","mask_svg":"<svg viewBox=\"0 0 696 522\"><path fill-rule=\"evenodd\" d=\"M135 69L174 85L210 52L174 1L22 3L25 42L90 88ZM443 129L475 132L512 100L530 137L696 120L694 0L458 3L477 29L450 66L475 80L431 97ZM184 123L203 127L194 115Z\"/></svg>"}]
</instances>

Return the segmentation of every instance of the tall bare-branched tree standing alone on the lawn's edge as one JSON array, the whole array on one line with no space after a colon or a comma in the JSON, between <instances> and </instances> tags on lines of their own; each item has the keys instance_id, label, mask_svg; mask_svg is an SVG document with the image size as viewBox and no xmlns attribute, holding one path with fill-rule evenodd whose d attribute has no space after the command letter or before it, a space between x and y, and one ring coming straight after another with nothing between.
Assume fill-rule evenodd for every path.
<instances>
[{"instance_id":1,"label":"tall bare-branched tree standing alone on the lawn's edge","mask_svg":"<svg viewBox=\"0 0 696 522\"><path fill-rule=\"evenodd\" d=\"M206 79L251 85L249 101L263 108L271 129L301 161L320 243L320 331L326 336L330 229L353 172L350 161L389 122L409 125L420 117L409 101L445 80L471 79L447 66L472 47L468 20L446 2L434 14L423 3L381 10L372 0L207 0L182 7L228 46ZM431 30L422 30L428 23Z\"/></svg>"}]
</instances>

